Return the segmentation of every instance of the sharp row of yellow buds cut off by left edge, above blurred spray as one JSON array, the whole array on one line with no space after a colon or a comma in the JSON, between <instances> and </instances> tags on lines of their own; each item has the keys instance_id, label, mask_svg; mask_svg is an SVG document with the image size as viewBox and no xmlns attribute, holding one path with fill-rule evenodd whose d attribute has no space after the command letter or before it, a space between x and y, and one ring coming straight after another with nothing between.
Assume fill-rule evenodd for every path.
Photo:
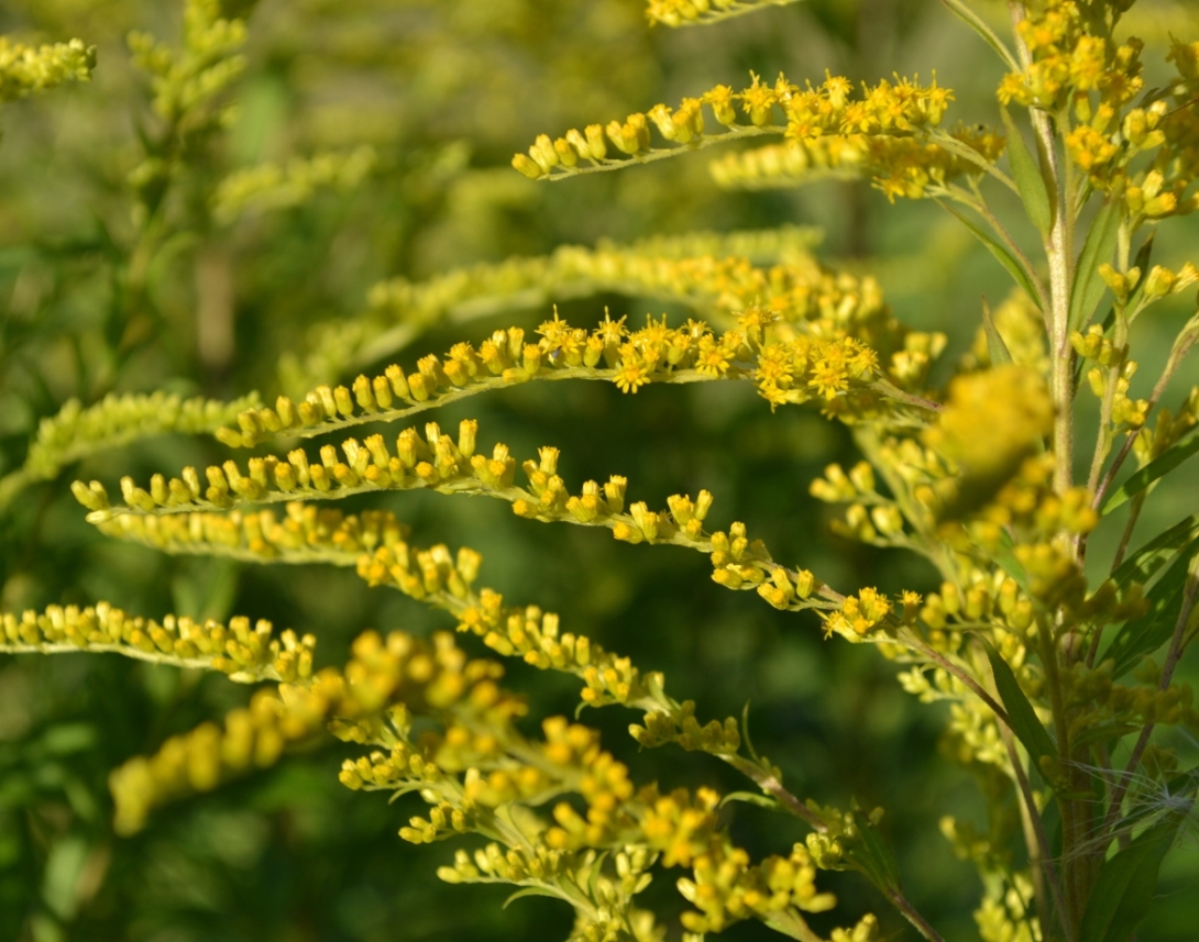
<instances>
[{"instance_id":1,"label":"sharp row of yellow buds cut off by left edge, above blurred spray","mask_svg":"<svg viewBox=\"0 0 1199 942\"><path fill-rule=\"evenodd\" d=\"M300 681L312 674L317 639L290 628L277 638L267 621L230 618L228 626L168 615L161 622L132 616L101 602L50 605L19 617L0 615L0 651L114 651L141 660L210 668L235 681Z\"/></svg>"}]
</instances>

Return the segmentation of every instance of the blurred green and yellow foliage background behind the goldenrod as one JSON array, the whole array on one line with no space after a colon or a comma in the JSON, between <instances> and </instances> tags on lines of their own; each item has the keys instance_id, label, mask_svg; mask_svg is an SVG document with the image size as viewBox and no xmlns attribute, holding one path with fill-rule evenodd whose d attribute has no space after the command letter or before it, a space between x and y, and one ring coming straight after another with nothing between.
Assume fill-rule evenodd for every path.
<instances>
[{"instance_id":1,"label":"blurred green and yellow foliage background behind the goldenrod","mask_svg":"<svg viewBox=\"0 0 1199 942\"><path fill-rule=\"evenodd\" d=\"M647 29L641 0L227 0L230 13L249 13L248 68L225 96L237 110L227 131L191 156L165 207L169 237L132 309L127 176L140 161L140 129L153 119L125 36L135 28L177 41L179 6L5 0L0 10L0 32L36 42L79 36L100 55L91 84L0 111L0 473L19 466L40 418L70 397L90 403L114 390L156 388L234 397L257 388L273 398L279 357L303 351L311 325L361 312L376 280L427 278L561 243L820 227L823 258L875 272L904 319L948 333L939 381L972 342L981 297L995 303L1007 294L1002 271L935 205L888 206L868 185L722 193L709 181L707 155L554 185L508 168L537 133L607 121L717 83L740 86L749 70L820 80L829 68L873 81L893 71L927 76L935 66L938 80L957 92L957 116L993 121L999 68L934 0L811 0L680 31ZM1004 12L999 2L982 6ZM1143 7L1133 28L1151 41L1164 41L1169 29L1199 32L1187 4ZM216 182L235 169L362 144L378 161L353 193L319 193L233 225L207 209ZM1170 223L1159 260L1177 267L1197 235L1193 223ZM572 301L562 312L585 325L604 306L638 320L663 310L611 295ZM224 340L212 342L211 324L203 326L197 312L221 321ZM478 342L498 326L531 330L548 313L434 330L403 362L459 339ZM1141 325L1134 348L1141 386L1152 384L1186 313L1180 303ZM1167 403L1195 381L1193 367L1181 373ZM1080 405L1084 423L1089 406ZM813 411L772 415L739 387L649 387L633 398L579 384L471 399L438 421L466 416L480 419L482 441L502 440L517 454L560 446L572 485L623 473L629 493L651 505L706 487L721 526L747 521L776 558L835 585L933 586L917 560L830 536L829 512L808 497L808 482L831 461L856 459L846 431ZM147 616L267 617L314 632L325 663L341 663L367 627L450 626L348 572L169 557L104 539L84 524L66 487L73 477L112 485L125 473L141 479L222 455L207 440L161 439L25 491L0 517L0 608L108 599ZM1199 508L1187 467L1176 477L1147 503L1139 535ZM939 753L944 711L903 694L893 666L872 650L825 642L815 618L722 590L694 554L520 520L498 502L414 493L345 509L364 506L396 511L414 526L414 543L481 550L482 584L513 603L560 612L570 630L632 656L643 670L664 671L668 689L697 699L703 715L740 714L751 700L755 744L782 766L791 790L843 807L854 796L884 805L910 899L946 938L977 937L970 916L977 880L953 858L936 822L952 813L983 826L980 799L969 773ZM1097 536L1096 564L1110 558L1117 535ZM472 638L463 644L483 650ZM1193 676L1194 659L1183 669ZM570 713L577 702L574 681L522 664L511 665L508 683L528 694L535 718ZM347 751L335 742L174 805L135 838L115 838L108 772L248 693L221 676L109 656L0 657L0 940L565 938L565 907L534 899L501 910L502 888L440 883L434 870L453 847L414 847L396 837L418 799L388 805L343 789L336 769ZM742 787L704 756L639 755L625 732L633 714L609 707L584 719L604 731L605 745L639 781ZM757 856L802 838L793 822L751 805L728 815ZM659 875L646 894L665 917L683 905L674 876ZM861 881L832 874L821 881L842 904L817 920L819 929L873 910L887 937L914 937ZM1167 861L1159 906L1139 938L1194 938L1197 886L1199 853L1182 847ZM770 935L757 924L727 934Z\"/></svg>"}]
</instances>

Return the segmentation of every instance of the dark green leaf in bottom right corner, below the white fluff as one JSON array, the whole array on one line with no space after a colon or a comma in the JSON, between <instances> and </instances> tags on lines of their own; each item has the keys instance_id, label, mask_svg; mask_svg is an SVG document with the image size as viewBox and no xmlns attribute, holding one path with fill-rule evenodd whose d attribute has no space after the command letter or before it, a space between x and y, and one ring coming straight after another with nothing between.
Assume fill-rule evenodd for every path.
<instances>
[{"instance_id":1,"label":"dark green leaf in bottom right corner, below the white fluff","mask_svg":"<svg viewBox=\"0 0 1199 942\"><path fill-rule=\"evenodd\" d=\"M1157 871L1179 826L1163 821L1103 864L1086 901L1078 942L1128 942L1149 913Z\"/></svg>"}]
</instances>

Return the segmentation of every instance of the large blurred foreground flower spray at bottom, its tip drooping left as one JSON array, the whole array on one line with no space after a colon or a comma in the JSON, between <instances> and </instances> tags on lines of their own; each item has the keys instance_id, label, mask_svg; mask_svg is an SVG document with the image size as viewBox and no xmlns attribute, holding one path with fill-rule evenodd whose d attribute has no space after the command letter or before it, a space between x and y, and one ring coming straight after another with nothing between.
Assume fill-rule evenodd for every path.
<instances>
[{"instance_id":1,"label":"large blurred foreground flower spray at bottom, its tip drooping left","mask_svg":"<svg viewBox=\"0 0 1199 942\"><path fill-rule=\"evenodd\" d=\"M135 832L155 808L273 765L289 744L327 726L375 747L345 761L343 784L397 796L418 791L430 805L402 838L426 844L476 833L494 841L474 861L459 851L453 866L439 870L447 882L536 887L574 906L582 925L633 937L652 926L633 898L661 862L693 871L680 884L698 908L683 917L693 931L759 918L795 938L817 938L801 912L836 900L815 889L813 852L796 845L789 857L754 865L719 827L719 796L711 790L637 790L596 732L561 718L543 723L544 738L525 737L513 724L524 705L498 686L501 676L499 664L468 660L444 633L432 644L367 633L344 670L260 692L223 725L204 724L119 768L112 777L118 828ZM420 745L410 737L414 717L438 726ZM572 792L585 815L561 801ZM542 822L535 809L550 802L553 823ZM601 852L617 859L608 863ZM872 917L866 922L873 925Z\"/></svg>"}]
</instances>

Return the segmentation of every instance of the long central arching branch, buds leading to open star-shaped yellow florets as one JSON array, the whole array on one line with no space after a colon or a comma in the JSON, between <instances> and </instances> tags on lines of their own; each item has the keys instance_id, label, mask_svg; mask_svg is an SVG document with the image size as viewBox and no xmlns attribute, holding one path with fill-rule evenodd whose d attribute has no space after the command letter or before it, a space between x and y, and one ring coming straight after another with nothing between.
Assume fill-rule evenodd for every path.
<instances>
[{"instance_id":1,"label":"long central arching branch, buds leading to open star-shaped yellow florets","mask_svg":"<svg viewBox=\"0 0 1199 942\"><path fill-rule=\"evenodd\" d=\"M739 314L740 330L721 334L701 321L668 327L665 318L646 320L645 327L629 330L623 318L605 318L589 332L572 327L555 312L553 320L537 328L541 340L536 344L524 343L519 327L496 331L477 350L464 342L444 358L422 357L411 373L405 374L393 363L374 378L360 375L351 386L318 386L300 403L281 395L273 409L246 409L237 415L237 430L219 429L217 437L234 447L249 447L275 436L309 437L367 422L405 418L534 379L608 380L627 393L650 382L748 379L771 405L820 399L838 411L831 406L832 400L844 399L851 391L864 392L880 372L878 354L863 342L797 334L775 312L757 306ZM912 368L920 338L910 339L911 349L903 351L906 356L893 358L914 369L902 376L892 374L904 385L918 380L932 361L926 354L921 366ZM846 405L843 411L852 412L852 407Z\"/></svg>"}]
</instances>

